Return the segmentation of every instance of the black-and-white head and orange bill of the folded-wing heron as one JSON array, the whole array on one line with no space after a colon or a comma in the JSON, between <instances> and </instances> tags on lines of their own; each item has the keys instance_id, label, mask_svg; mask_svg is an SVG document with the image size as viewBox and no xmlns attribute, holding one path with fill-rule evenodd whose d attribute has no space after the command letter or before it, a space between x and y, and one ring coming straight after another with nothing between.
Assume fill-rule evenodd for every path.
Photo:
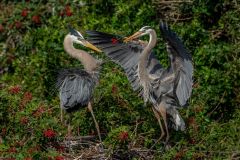
<instances>
[{"instance_id":1,"label":"black-and-white head and orange bill of the folded-wing heron","mask_svg":"<svg viewBox=\"0 0 240 160\"><path fill-rule=\"evenodd\" d=\"M73 29L70 25L68 25L69 29L69 36L71 37L72 41L77 44L81 44L87 48L90 48L96 52L102 52L100 49L95 47L93 44L88 42L87 40L84 39L83 35L78 32L77 30Z\"/></svg>"}]
</instances>

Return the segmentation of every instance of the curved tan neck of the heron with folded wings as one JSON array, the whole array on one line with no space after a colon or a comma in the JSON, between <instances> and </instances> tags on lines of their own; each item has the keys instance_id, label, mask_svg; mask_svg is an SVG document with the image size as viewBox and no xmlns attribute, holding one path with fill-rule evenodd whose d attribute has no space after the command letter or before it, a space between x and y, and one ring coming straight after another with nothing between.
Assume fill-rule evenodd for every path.
<instances>
[{"instance_id":1,"label":"curved tan neck of the heron with folded wings","mask_svg":"<svg viewBox=\"0 0 240 160\"><path fill-rule=\"evenodd\" d=\"M73 47L73 41L70 36L66 36L63 42L64 50L73 58L78 59L86 71L95 71L98 68L98 61L84 50Z\"/></svg>"}]
</instances>

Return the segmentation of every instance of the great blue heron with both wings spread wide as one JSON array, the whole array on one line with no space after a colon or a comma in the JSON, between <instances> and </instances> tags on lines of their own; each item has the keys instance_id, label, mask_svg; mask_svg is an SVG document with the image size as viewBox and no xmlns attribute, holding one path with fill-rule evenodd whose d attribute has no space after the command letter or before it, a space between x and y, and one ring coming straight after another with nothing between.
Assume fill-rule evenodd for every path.
<instances>
[{"instance_id":1,"label":"great blue heron with both wings spread wide","mask_svg":"<svg viewBox=\"0 0 240 160\"><path fill-rule=\"evenodd\" d=\"M140 91L144 101L153 104L152 110L161 129L159 140L165 135L160 120L162 117L167 142L168 126L175 130L185 129L185 123L177 109L187 106L187 101L191 96L193 64L191 55L176 33L164 23L160 24L160 30L166 41L170 59L168 68L162 67L152 51L156 45L157 35L155 30L149 26L142 27L125 39L98 31L87 31L87 34L89 42L123 67L133 89ZM150 37L147 45L132 42L144 35Z\"/></svg>"}]
</instances>

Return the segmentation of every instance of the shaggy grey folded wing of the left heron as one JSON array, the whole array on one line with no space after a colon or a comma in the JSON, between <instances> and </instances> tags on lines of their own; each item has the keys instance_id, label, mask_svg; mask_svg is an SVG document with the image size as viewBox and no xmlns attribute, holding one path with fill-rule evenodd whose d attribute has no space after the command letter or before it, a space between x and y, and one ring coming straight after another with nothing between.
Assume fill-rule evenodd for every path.
<instances>
[{"instance_id":1,"label":"shaggy grey folded wing of the left heron","mask_svg":"<svg viewBox=\"0 0 240 160\"><path fill-rule=\"evenodd\" d=\"M58 73L56 87L60 92L63 109L73 109L86 105L92 98L96 81L84 70L77 68L62 69Z\"/></svg>"}]
</instances>

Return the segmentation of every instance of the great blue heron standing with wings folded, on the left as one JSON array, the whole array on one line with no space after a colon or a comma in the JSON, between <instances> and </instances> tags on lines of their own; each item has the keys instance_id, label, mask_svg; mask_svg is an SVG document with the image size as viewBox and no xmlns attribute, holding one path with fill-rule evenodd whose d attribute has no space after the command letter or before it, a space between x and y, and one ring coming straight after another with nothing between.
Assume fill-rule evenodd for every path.
<instances>
[{"instance_id":1,"label":"great blue heron standing with wings folded, on the left","mask_svg":"<svg viewBox=\"0 0 240 160\"><path fill-rule=\"evenodd\" d=\"M66 112L78 110L82 106L88 107L92 114L99 140L101 135L99 126L92 110L91 99L95 85L98 83L101 61L95 59L84 50L76 49L73 43L81 44L97 52L100 50L86 41L82 34L69 26L70 33L64 38L64 49L72 57L78 59L84 69L62 69L58 73L56 86L59 89L61 108ZM70 124L68 132L70 131Z\"/></svg>"}]
</instances>

